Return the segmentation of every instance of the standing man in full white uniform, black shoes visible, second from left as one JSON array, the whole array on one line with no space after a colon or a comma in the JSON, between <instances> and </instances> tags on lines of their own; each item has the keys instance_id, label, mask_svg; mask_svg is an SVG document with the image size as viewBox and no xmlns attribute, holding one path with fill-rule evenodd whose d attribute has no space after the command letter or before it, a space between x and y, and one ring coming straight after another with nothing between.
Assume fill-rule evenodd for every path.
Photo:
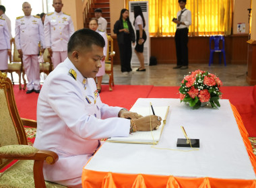
<instances>
[{"instance_id":1,"label":"standing man in full white uniform, black shoes visible, second from left","mask_svg":"<svg viewBox=\"0 0 256 188\"><path fill-rule=\"evenodd\" d=\"M25 16L16 18L15 45L22 56L25 73L28 79L27 93L40 93L40 66L38 63L39 50L44 52L44 30L39 16L31 15L30 3L24 2L22 10ZM38 44L42 46L39 49Z\"/></svg>"}]
</instances>

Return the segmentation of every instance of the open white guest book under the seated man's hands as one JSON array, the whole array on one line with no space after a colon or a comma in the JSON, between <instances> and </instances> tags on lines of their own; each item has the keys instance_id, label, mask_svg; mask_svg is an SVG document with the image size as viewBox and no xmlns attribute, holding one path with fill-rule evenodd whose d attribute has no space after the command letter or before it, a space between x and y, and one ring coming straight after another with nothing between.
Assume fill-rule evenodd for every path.
<instances>
[{"instance_id":1,"label":"open white guest book under the seated man's hands","mask_svg":"<svg viewBox=\"0 0 256 188\"><path fill-rule=\"evenodd\" d=\"M152 115L152 109L149 107L132 107L130 111L137 112L140 115ZM157 130L152 131L137 131L129 134L127 137L111 137L106 140L107 142L123 142L134 144L157 144L160 140L162 130L166 124L166 118L169 112L169 106L154 107L156 115L162 118L161 126Z\"/></svg>"}]
</instances>

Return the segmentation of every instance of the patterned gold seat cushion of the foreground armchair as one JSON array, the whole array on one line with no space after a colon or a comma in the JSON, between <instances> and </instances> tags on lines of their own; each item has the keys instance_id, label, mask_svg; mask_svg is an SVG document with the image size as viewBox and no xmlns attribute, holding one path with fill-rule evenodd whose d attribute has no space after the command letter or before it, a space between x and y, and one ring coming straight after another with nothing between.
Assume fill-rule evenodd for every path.
<instances>
[{"instance_id":1,"label":"patterned gold seat cushion of the foreground armchair","mask_svg":"<svg viewBox=\"0 0 256 188\"><path fill-rule=\"evenodd\" d=\"M34 160L19 160L0 174L0 187L34 187L33 166ZM49 181L45 181L45 184L48 188L65 187Z\"/></svg>"}]
</instances>

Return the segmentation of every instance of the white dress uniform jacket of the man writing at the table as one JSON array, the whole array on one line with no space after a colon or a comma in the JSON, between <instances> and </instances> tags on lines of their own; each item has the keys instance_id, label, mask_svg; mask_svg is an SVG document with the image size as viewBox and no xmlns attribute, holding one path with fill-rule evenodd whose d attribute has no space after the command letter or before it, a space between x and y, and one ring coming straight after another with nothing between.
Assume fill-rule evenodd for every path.
<instances>
[{"instance_id":1,"label":"white dress uniform jacket of the man writing at the table","mask_svg":"<svg viewBox=\"0 0 256 188\"><path fill-rule=\"evenodd\" d=\"M55 164L44 164L44 178L61 181L81 177L100 139L128 136L130 120L117 118L120 110L100 101L94 79L85 79L69 58L59 64L46 78L38 97L34 146L59 155Z\"/></svg>"}]
</instances>

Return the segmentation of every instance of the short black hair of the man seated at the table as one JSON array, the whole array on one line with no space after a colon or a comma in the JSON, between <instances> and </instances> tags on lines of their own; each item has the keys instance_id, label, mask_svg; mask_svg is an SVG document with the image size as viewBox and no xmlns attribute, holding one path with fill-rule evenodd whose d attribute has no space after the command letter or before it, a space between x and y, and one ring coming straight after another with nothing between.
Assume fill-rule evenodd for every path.
<instances>
[{"instance_id":1,"label":"short black hair of the man seated at the table","mask_svg":"<svg viewBox=\"0 0 256 188\"><path fill-rule=\"evenodd\" d=\"M104 48L105 41L104 38L90 29L77 30L69 38L69 43L67 44L67 52L73 52L74 50L92 49L92 44Z\"/></svg>"}]
</instances>

